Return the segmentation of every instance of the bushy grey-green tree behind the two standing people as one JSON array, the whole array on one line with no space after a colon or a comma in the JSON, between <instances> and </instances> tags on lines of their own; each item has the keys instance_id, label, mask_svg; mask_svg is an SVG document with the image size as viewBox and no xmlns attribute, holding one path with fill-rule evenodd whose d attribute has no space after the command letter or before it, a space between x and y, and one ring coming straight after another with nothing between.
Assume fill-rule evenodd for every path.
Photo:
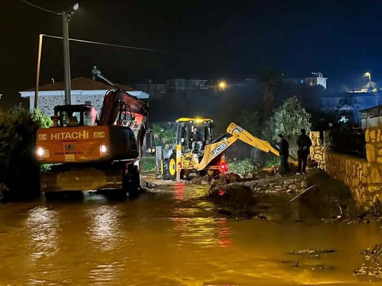
<instances>
[{"instance_id":1,"label":"bushy grey-green tree behind the two standing people","mask_svg":"<svg viewBox=\"0 0 382 286\"><path fill-rule=\"evenodd\" d=\"M267 120L263 135L268 140L276 140L278 134L283 134L290 142L292 156L296 156L296 138L301 129L311 130L311 117L296 96L288 98Z\"/></svg>"}]
</instances>

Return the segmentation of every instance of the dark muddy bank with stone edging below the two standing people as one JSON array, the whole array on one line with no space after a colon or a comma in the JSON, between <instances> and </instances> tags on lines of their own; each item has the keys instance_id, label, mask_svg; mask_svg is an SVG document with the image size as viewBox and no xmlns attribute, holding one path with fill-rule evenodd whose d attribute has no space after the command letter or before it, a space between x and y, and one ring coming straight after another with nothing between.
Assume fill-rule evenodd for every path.
<instances>
[{"instance_id":1,"label":"dark muddy bank with stone edging below the two standing people","mask_svg":"<svg viewBox=\"0 0 382 286\"><path fill-rule=\"evenodd\" d=\"M312 188L291 202L309 187ZM228 175L211 184L207 199L218 212L235 218L274 219L298 213L291 219L369 223L380 221L382 214L380 208L371 211L358 208L347 186L319 170L260 179Z\"/></svg>"}]
</instances>

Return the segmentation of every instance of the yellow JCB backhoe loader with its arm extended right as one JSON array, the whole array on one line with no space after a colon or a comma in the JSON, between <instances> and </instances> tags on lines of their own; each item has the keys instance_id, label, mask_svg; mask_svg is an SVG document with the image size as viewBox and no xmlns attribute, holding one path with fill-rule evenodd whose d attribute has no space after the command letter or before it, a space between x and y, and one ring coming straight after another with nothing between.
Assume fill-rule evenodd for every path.
<instances>
[{"instance_id":1,"label":"yellow JCB backhoe loader with its arm extended right","mask_svg":"<svg viewBox=\"0 0 382 286\"><path fill-rule=\"evenodd\" d=\"M203 135L202 150L197 152L191 147L191 132L197 127ZM224 160L224 151L241 140L265 153L273 153L279 156L269 142L261 140L251 133L231 122L227 133L213 138L213 120L211 118L179 118L176 121L175 150L170 152L168 158L163 157L158 166L158 173L164 179L181 180L187 178L191 172L206 172L213 176L227 172L227 164Z\"/></svg>"}]
</instances>

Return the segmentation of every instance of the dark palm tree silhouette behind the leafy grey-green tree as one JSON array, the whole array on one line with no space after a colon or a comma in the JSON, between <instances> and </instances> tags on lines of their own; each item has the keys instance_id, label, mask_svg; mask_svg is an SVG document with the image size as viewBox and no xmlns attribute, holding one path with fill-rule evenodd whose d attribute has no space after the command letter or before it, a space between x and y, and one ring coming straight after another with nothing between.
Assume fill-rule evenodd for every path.
<instances>
[{"instance_id":1,"label":"dark palm tree silhouette behind the leafy grey-green tree","mask_svg":"<svg viewBox=\"0 0 382 286\"><path fill-rule=\"evenodd\" d=\"M258 82L264 87L263 92L263 119L268 118L273 108L274 90L282 83L281 75L273 69L265 69L258 75Z\"/></svg>"}]
</instances>

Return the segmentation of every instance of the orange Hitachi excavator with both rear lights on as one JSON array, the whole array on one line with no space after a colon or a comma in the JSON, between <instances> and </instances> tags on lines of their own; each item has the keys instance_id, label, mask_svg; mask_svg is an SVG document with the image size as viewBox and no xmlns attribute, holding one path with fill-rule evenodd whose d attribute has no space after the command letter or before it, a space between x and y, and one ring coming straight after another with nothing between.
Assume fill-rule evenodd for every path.
<instances>
[{"instance_id":1,"label":"orange Hitachi excavator with both rear lights on","mask_svg":"<svg viewBox=\"0 0 382 286\"><path fill-rule=\"evenodd\" d=\"M115 89L105 94L101 112L90 105L56 106L50 128L40 128L36 155L52 164L40 178L45 194L59 191L139 189L139 160L148 105L118 88L94 67L93 77Z\"/></svg>"}]
</instances>

